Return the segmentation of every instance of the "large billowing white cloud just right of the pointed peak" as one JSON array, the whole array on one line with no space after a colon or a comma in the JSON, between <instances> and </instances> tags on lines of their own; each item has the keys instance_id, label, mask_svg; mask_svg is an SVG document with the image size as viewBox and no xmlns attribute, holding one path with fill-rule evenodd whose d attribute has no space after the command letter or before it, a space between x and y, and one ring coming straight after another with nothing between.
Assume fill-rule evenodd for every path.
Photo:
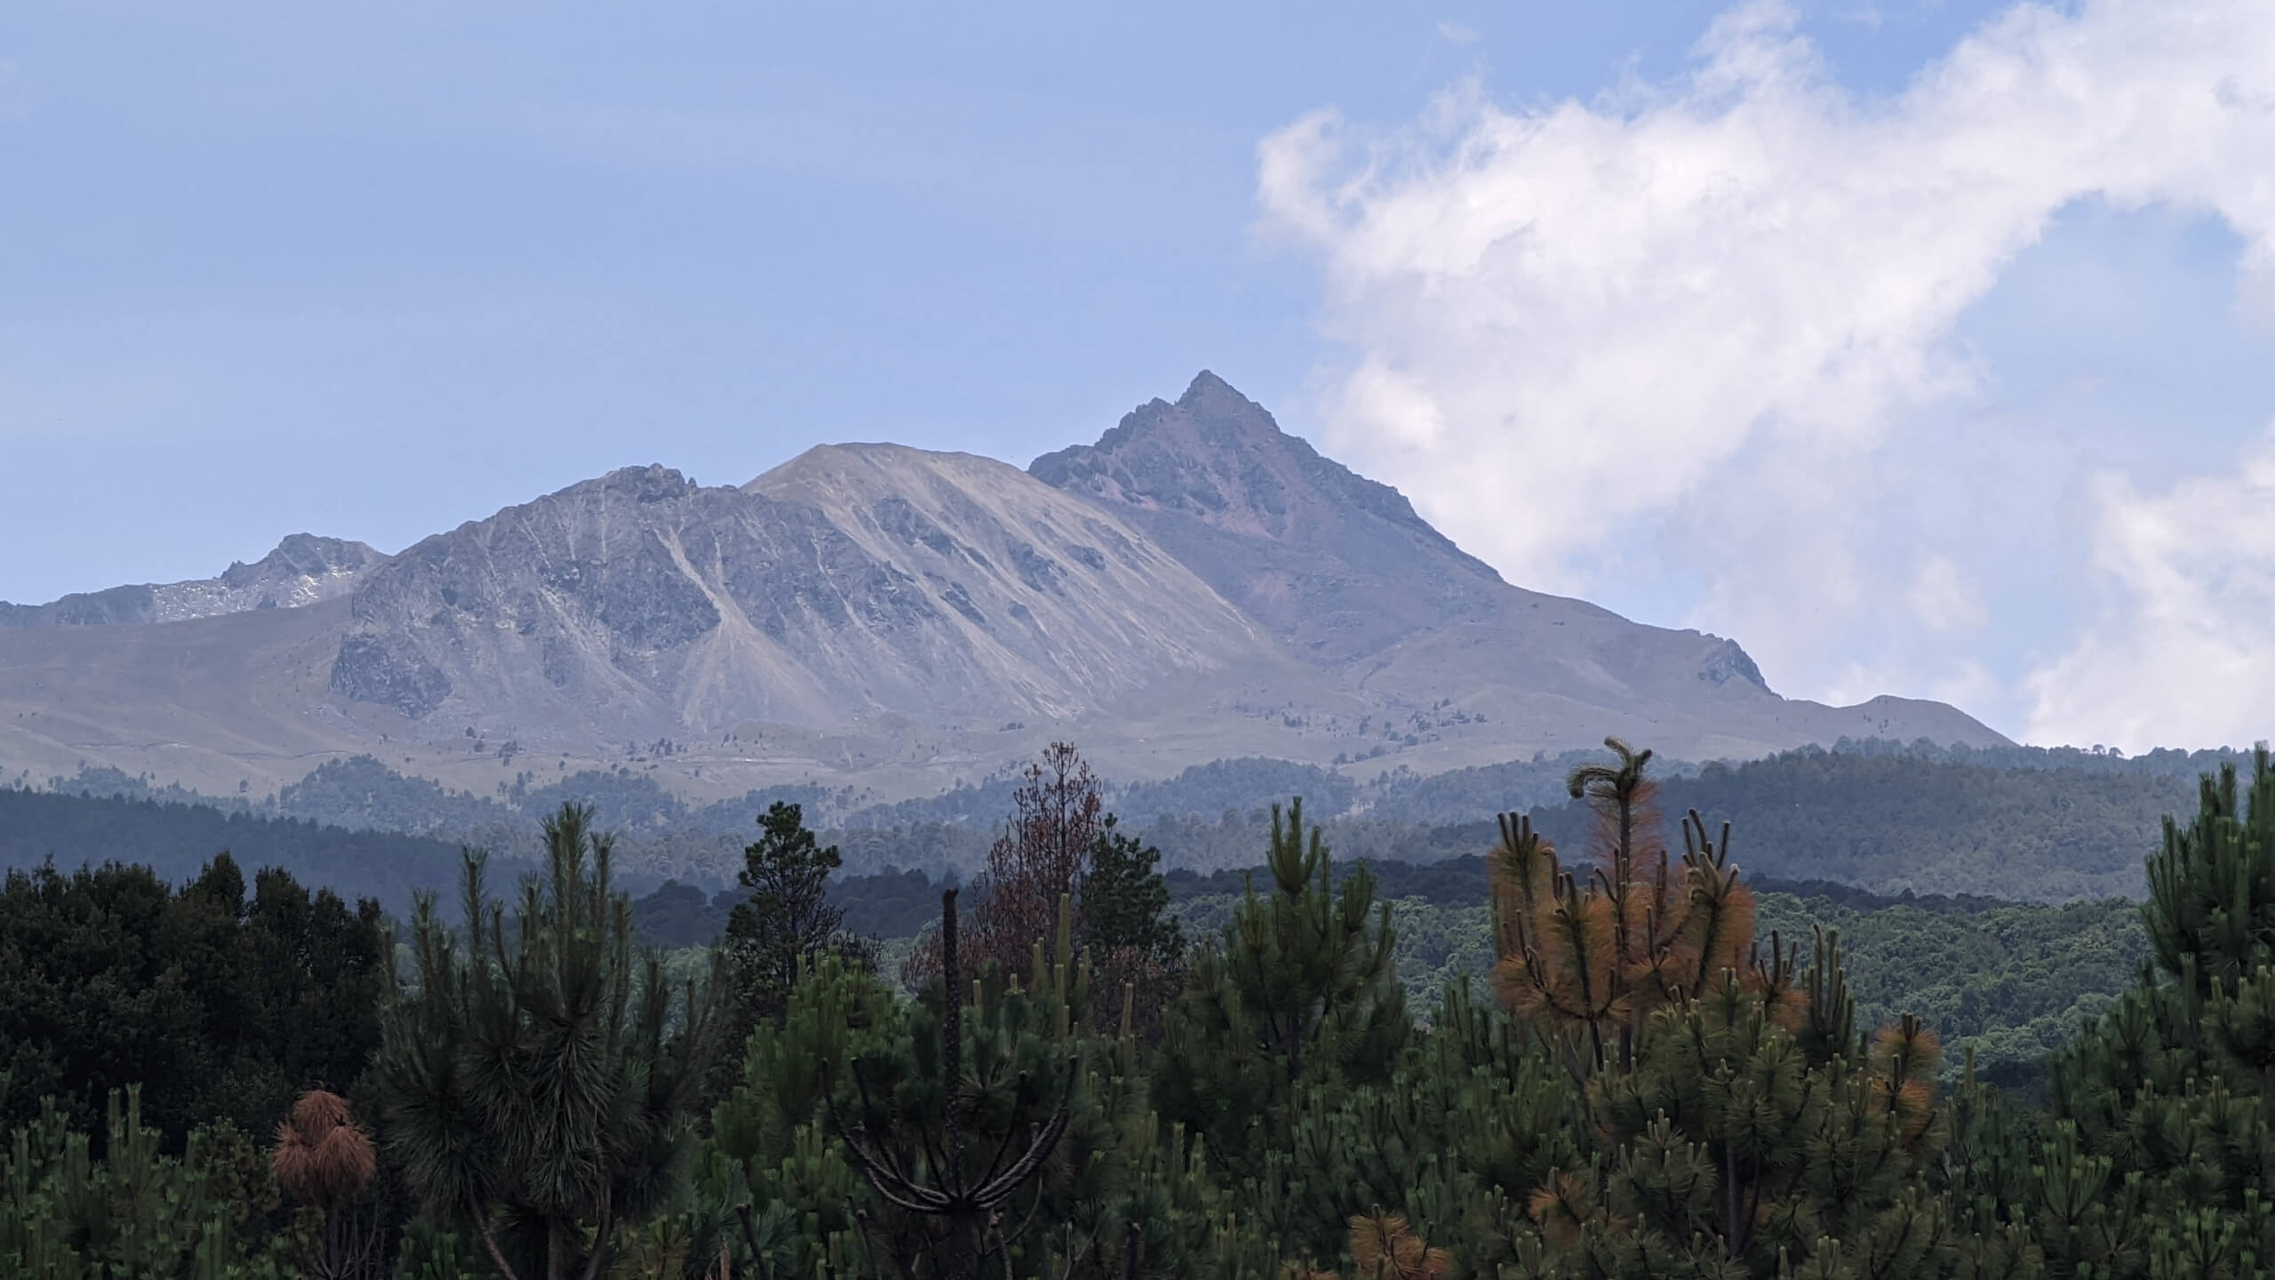
<instances>
[{"instance_id":1,"label":"large billowing white cloud just right of the pointed peak","mask_svg":"<svg viewBox=\"0 0 2275 1280\"><path fill-rule=\"evenodd\" d=\"M1970 551L1897 515L1979 481L1906 437L1977 383L1968 305L2077 200L2225 219L2264 289L2270 164L2266 0L2025 5L1891 98L1756 2L1672 84L1304 116L1260 143L1258 196L1324 264L1333 451L1513 581L1602 594L1672 565L1684 622L1772 683L1863 697L1984 686Z\"/></svg>"}]
</instances>

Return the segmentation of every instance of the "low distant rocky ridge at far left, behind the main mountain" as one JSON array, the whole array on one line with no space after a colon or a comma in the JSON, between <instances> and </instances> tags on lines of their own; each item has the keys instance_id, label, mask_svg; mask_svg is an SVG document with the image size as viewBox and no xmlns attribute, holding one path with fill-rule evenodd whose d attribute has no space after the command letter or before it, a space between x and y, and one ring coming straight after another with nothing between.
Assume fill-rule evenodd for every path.
<instances>
[{"instance_id":1,"label":"low distant rocky ridge at far left, behind the main mountain","mask_svg":"<svg viewBox=\"0 0 2275 1280\"><path fill-rule=\"evenodd\" d=\"M300 608L353 592L384 560L362 542L293 533L275 551L250 565L239 560L218 579L109 588L48 604L0 599L0 626L136 626L253 608Z\"/></svg>"}]
</instances>

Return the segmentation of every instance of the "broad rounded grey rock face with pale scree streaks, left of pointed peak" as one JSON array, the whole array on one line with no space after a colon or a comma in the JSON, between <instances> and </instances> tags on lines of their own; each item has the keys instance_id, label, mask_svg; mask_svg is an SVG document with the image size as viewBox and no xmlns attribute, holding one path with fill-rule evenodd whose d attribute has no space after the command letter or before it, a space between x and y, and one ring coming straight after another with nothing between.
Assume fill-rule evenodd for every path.
<instances>
[{"instance_id":1,"label":"broad rounded grey rock face with pale scree streaks, left of pointed peak","mask_svg":"<svg viewBox=\"0 0 2275 1280\"><path fill-rule=\"evenodd\" d=\"M341 697L628 731L1074 715L1274 658L1112 517L1001 462L874 444L739 490L612 471L419 542L353 617Z\"/></svg>"}]
</instances>

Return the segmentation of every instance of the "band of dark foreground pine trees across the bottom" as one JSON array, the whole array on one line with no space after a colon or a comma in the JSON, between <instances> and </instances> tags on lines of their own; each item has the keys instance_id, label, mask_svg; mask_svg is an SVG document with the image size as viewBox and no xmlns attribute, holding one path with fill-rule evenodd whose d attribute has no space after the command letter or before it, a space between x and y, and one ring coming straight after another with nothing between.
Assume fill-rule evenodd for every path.
<instances>
[{"instance_id":1,"label":"band of dark foreground pine trees across the bottom","mask_svg":"<svg viewBox=\"0 0 2275 1280\"><path fill-rule=\"evenodd\" d=\"M635 945L614 847L578 806L544 822L544 870L519 893L469 861L450 906L423 900L407 961L375 991L355 977L371 968L305 963L362 954L332 938L375 925L375 906L344 934L293 934L266 922L262 888L232 893L221 861L184 888L18 875L9 909L27 922L9 918L0 957L50 979L0 1000L57 1007L73 984L111 1000L136 975L180 970L196 982L175 1004L237 1014L164 1023L164 1036L234 1045L212 1061L262 1052L257 1029L284 1045L318 1009L341 1027L318 1043L369 1052L346 1086L337 1057L243 1068L298 1091L287 1102L271 1086L264 1116L214 1086L162 1114L162 1080L111 1093L100 1121L84 1093L59 1093L0 1143L0 1273L2266 1271L2264 754L2248 779L2209 779L2143 850L2148 963L2079 1014L2036 1093L2016 1093L1979 1057L1945 1070L1945 1041L1916 1009L1877 1018L1886 977L1866 968L2093 934L2113 904L1795 906L1809 900L1740 872L1720 820L1649 822L1668 799L1649 754L1611 749L1567 779L1588 804L1572 843L1506 815L1483 902L1458 906L1385 902L1374 870L1340 872L1329 834L1290 804L1267 820L1254 891L1194 945L1158 854L1106 822L1067 752L1015 790L969 902L942 893L933 943L901 973L846 936L824 891L842 859L787 804L769 804L744 847L730 945L689 979ZM275 884L273 904L332 911L257 881ZM111 900L143 906L91 906ZM1401 929L1417 911L1481 911L1490 977L1410 998ZM57 945L109 916L139 927ZM1884 918L1895 950L1868 961ZM14 945L20 929L32 945ZM2020 973L2013 995L2029 982ZM0 1018L25 1014L0 1004ZM41 1052L100 1057L66 1041L105 1027L50 1023ZM7 1098L20 1116L14 1086Z\"/></svg>"}]
</instances>

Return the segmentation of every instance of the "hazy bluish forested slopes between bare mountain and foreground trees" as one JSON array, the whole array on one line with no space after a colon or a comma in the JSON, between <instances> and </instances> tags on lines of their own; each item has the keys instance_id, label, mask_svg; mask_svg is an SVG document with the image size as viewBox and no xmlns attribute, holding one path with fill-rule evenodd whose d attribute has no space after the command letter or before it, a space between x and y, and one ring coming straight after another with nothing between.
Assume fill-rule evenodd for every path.
<instances>
[{"instance_id":1,"label":"hazy bluish forested slopes between bare mountain and foreground trees","mask_svg":"<svg viewBox=\"0 0 2275 1280\"><path fill-rule=\"evenodd\" d=\"M1383 772L1367 781L1288 761L1215 761L1158 783L1115 788L1101 781L1101 793L1128 831L1163 850L1172 870L1210 875L1254 865L1267 831L1265 802L1274 795L1304 795L1345 861L1420 865L1488 847L1492 815L1511 809L1570 843L1586 827L1586 809L1563 795L1563 779L1579 758L1542 756L1436 777ZM1654 763L1654 770L1670 813L1695 806L1738 822L1734 856L1754 875L1840 881L1875 893L1913 888L2066 902L2138 897L2145 891L2138 850L2157 838L2164 813L2191 804L2191 779L2227 761L2232 752L2127 758L2068 747L1845 740L1831 752L1811 747L1740 765ZM93 795L150 790L146 779L116 770L82 770L80 779L55 779L55 786ZM619 768L546 786L516 781L500 797L473 797L357 758L314 770L268 809L248 799L234 806L344 827L448 834L500 856L535 859L535 815L569 799L589 802L596 820L617 834L619 868L628 877L717 891L735 875L751 815L774 802L799 804L828 831L853 875L969 877L985 861L1015 788L1015 777L992 777L940 797L860 804L851 788L787 786L696 806L653 774Z\"/></svg>"}]
</instances>

